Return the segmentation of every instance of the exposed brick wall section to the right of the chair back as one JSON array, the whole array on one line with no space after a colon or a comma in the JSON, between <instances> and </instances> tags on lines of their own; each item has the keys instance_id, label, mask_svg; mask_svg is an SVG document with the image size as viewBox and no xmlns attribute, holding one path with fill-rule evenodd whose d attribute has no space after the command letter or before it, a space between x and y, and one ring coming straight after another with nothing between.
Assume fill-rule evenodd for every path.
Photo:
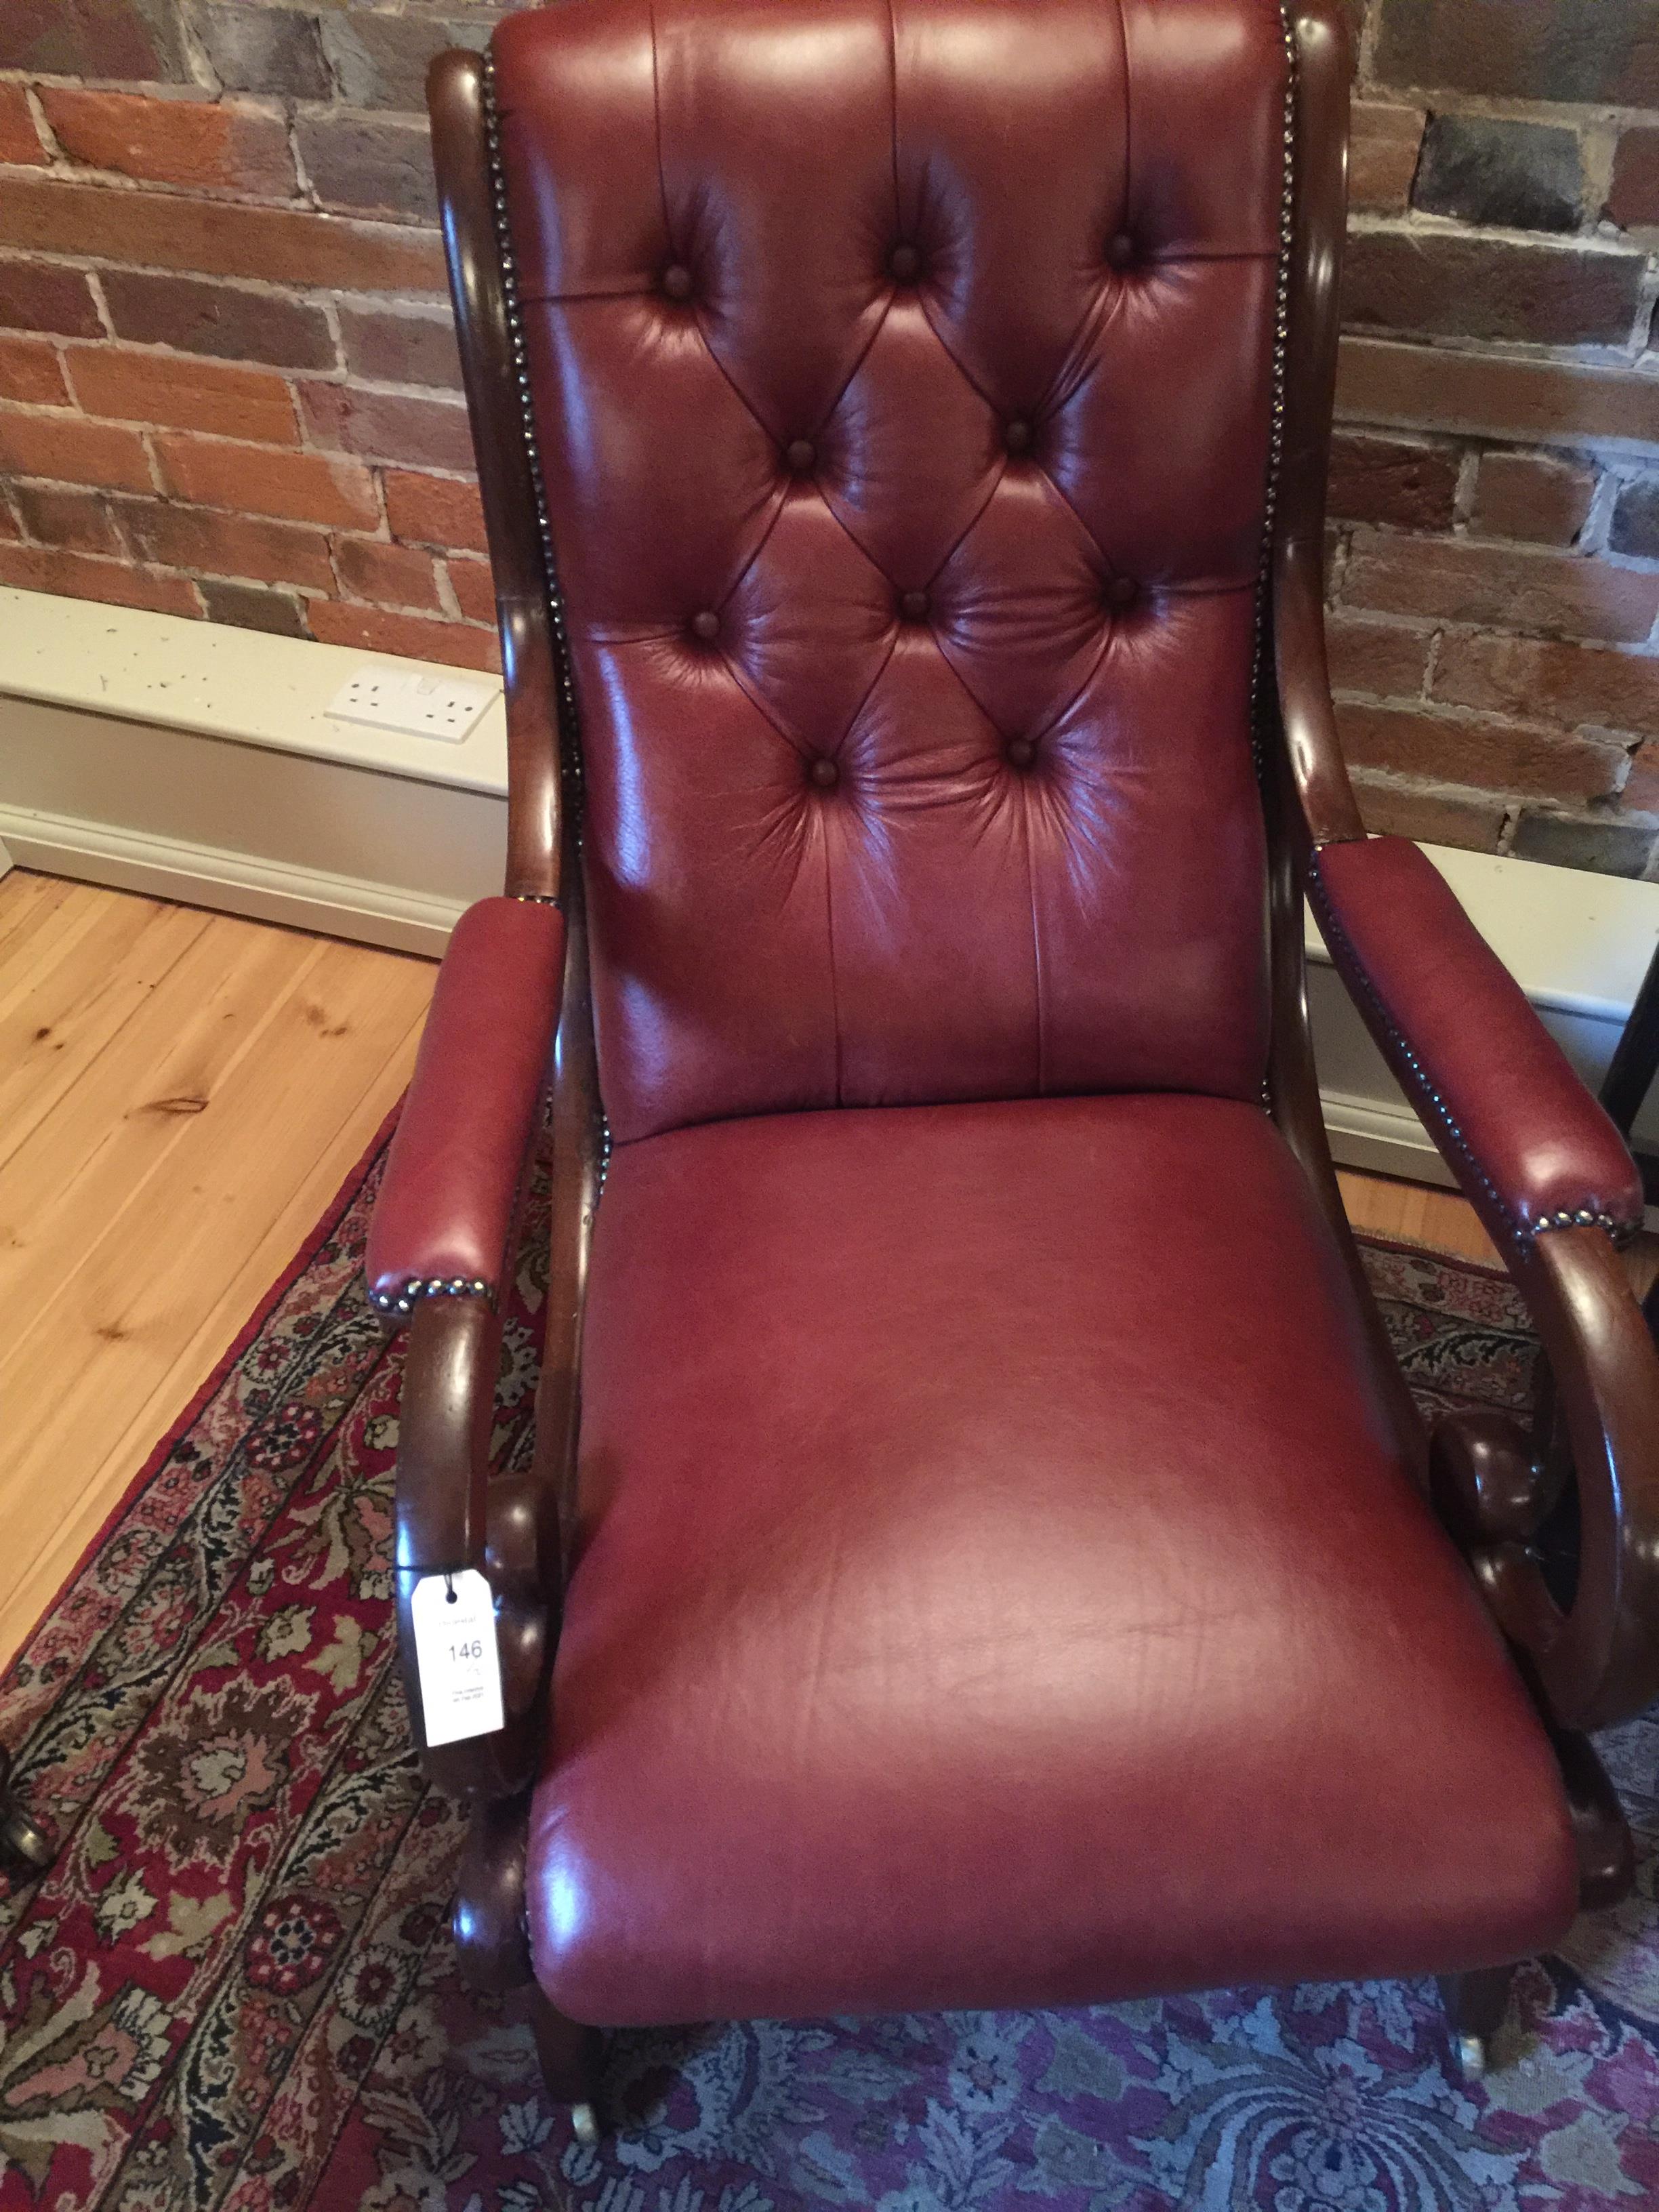
<instances>
[{"instance_id":1,"label":"exposed brick wall section to the right of the chair back","mask_svg":"<svg viewBox=\"0 0 1659 2212\"><path fill-rule=\"evenodd\" d=\"M1659 876L1659 11L1354 13L1329 602L1367 821Z\"/></svg>"}]
</instances>

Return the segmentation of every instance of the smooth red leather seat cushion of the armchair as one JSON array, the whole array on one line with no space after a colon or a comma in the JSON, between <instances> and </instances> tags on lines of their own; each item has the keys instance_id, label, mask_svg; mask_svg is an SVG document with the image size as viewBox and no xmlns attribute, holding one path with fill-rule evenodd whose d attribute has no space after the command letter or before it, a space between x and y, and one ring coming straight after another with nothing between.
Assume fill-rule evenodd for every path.
<instances>
[{"instance_id":1,"label":"smooth red leather seat cushion of the armchair","mask_svg":"<svg viewBox=\"0 0 1659 2212\"><path fill-rule=\"evenodd\" d=\"M1199 1097L626 1146L531 1823L577 2020L1493 1964L1553 1754L1301 1170Z\"/></svg>"}]
</instances>

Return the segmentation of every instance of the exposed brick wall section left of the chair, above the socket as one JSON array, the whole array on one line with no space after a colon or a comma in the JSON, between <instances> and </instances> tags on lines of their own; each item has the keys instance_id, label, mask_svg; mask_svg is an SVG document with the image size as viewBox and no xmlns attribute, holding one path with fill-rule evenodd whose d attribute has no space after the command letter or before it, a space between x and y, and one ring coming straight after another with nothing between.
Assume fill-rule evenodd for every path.
<instances>
[{"instance_id":1,"label":"exposed brick wall section left of the chair, above the socket","mask_svg":"<svg viewBox=\"0 0 1659 2212\"><path fill-rule=\"evenodd\" d=\"M498 13L0 0L0 582L495 666L422 80Z\"/></svg>"}]
</instances>

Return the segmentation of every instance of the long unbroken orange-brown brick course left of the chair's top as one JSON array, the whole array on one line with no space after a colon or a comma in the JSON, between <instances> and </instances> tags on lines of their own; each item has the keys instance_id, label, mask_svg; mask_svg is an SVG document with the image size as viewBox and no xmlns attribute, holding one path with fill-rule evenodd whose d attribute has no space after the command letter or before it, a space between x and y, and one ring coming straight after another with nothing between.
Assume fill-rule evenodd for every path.
<instances>
[{"instance_id":1,"label":"long unbroken orange-brown brick course left of the chair's top","mask_svg":"<svg viewBox=\"0 0 1659 2212\"><path fill-rule=\"evenodd\" d=\"M336 292L445 288L442 248L427 230L58 177L7 184L0 246Z\"/></svg>"}]
</instances>

